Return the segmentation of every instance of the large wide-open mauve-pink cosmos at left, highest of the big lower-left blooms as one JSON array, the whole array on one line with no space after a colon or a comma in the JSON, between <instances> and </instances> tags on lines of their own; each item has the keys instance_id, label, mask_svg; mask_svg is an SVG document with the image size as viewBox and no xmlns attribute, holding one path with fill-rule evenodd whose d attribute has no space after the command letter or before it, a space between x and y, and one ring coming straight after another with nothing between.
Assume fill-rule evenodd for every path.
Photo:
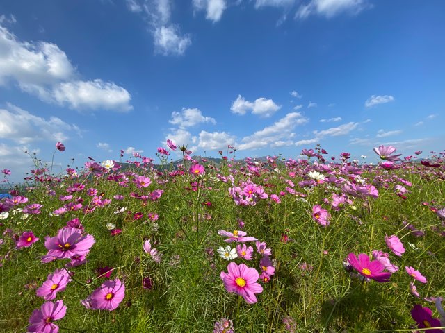
<instances>
[{"instance_id":1,"label":"large wide-open mauve-pink cosmos at left, highest of the big lower-left blooms","mask_svg":"<svg viewBox=\"0 0 445 333\"><path fill-rule=\"evenodd\" d=\"M44 246L49 250L47 256L57 259L86 256L92 244L95 244L95 238L90 234L82 236L81 230L76 228L60 229L56 237L47 237L44 241Z\"/></svg>"}]
</instances>

